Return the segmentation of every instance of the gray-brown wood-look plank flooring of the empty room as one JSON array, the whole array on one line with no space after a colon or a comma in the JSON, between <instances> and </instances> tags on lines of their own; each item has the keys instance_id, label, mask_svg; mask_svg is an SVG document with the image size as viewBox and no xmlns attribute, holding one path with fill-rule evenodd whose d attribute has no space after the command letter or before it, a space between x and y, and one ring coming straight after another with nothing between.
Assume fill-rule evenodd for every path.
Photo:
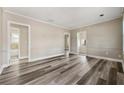
<instances>
[{"instance_id":1,"label":"gray-brown wood-look plank flooring of the empty room","mask_svg":"<svg viewBox=\"0 0 124 93\"><path fill-rule=\"evenodd\" d=\"M123 85L122 64L80 55L24 62L4 68L1 85Z\"/></svg>"}]
</instances>

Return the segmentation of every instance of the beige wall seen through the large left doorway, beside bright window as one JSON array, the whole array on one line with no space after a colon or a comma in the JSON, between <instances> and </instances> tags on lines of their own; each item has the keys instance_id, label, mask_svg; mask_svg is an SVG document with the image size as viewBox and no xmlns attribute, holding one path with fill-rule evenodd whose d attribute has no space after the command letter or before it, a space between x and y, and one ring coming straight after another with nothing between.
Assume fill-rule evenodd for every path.
<instances>
[{"instance_id":1,"label":"beige wall seen through the large left doorway, beside bright window","mask_svg":"<svg viewBox=\"0 0 124 93\"><path fill-rule=\"evenodd\" d=\"M11 24L11 27L20 30L20 58L28 58L28 27Z\"/></svg>"}]
</instances>

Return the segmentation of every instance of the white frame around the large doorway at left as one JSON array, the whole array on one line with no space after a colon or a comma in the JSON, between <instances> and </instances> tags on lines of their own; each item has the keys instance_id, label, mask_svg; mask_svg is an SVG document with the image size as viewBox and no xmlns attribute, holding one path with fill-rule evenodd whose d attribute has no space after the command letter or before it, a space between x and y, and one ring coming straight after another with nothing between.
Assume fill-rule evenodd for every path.
<instances>
[{"instance_id":1,"label":"white frame around the large doorway at left","mask_svg":"<svg viewBox=\"0 0 124 93\"><path fill-rule=\"evenodd\" d=\"M17 25L21 25L21 26L26 26L28 27L28 62L31 61L31 26L29 24L24 24L24 23L20 23L20 22L16 22L16 21L8 21L7 22L7 32L8 32L8 65L11 65L10 63L10 30L11 24L17 24Z\"/></svg>"}]
</instances>

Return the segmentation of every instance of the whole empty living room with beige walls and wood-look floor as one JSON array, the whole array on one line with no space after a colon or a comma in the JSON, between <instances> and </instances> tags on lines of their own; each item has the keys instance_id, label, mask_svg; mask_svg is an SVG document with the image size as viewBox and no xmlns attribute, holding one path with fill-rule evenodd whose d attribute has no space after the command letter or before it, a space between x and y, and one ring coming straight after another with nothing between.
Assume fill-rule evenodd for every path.
<instances>
[{"instance_id":1,"label":"whole empty living room with beige walls and wood-look floor","mask_svg":"<svg viewBox=\"0 0 124 93\"><path fill-rule=\"evenodd\" d=\"M124 85L123 7L0 7L0 85Z\"/></svg>"}]
</instances>

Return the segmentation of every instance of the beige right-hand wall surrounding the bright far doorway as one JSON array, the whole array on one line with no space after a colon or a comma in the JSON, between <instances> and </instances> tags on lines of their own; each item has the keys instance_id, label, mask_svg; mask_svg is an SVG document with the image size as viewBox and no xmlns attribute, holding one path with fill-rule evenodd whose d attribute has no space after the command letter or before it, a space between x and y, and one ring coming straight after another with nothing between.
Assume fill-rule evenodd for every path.
<instances>
[{"instance_id":1,"label":"beige right-hand wall surrounding the bright far doorway","mask_svg":"<svg viewBox=\"0 0 124 93\"><path fill-rule=\"evenodd\" d=\"M77 32L87 31L87 54L122 59L122 18L71 32L71 51L77 52Z\"/></svg>"}]
</instances>

